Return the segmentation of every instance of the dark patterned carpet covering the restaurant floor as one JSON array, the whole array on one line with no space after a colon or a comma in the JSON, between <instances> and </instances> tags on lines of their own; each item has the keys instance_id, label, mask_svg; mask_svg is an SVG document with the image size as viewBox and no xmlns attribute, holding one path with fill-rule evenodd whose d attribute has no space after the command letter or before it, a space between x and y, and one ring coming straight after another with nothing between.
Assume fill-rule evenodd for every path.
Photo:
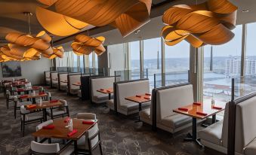
<instances>
[{"instance_id":1,"label":"dark patterned carpet covering the restaurant floor","mask_svg":"<svg viewBox=\"0 0 256 155\"><path fill-rule=\"evenodd\" d=\"M91 105L88 101L79 101L76 96L66 96L66 93L57 90L48 90L53 99L66 99L72 117L79 112L97 114L100 136L105 155L206 155L203 148L193 142L185 142L187 129L171 135L158 130L153 132L151 127L143 123L134 123L132 117L116 116L103 105ZM5 98L0 94L0 155L27 154L30 141L34 138L35 126L26 126L25 137L20 132L20 114L14 119L13 104L7 109ZM94 154L100 154L95 150Z\"/></svg>"}]
</instances>

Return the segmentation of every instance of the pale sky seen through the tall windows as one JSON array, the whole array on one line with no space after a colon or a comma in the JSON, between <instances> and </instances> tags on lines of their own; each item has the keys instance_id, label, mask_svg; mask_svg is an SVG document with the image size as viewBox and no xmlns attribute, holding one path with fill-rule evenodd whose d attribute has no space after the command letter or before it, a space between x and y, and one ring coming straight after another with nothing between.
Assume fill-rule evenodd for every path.
<instances>
[{"instance_id":1,"label":"pale sky seen through the tall windows","mask_svg":"<svg viewBox=\"0 0 256 155\"><path fill-rule=\"evenodd\" d=\"M213 46L213 56L241 56L242 50L242 25L232 30L235 37L226 44ZM256 23L249 23L247 27L246 56L256 56ZM156 59L157 51L161 51L160 38L153 38L143 41L144 59ZM131 42L131 59L140 59L139 41ZM209 57L211 45L205 45L205 57ZM172 47L165 45L166 58L186 58L190 56L190 44L182 41ZM159 54L161 57L161 52Z\"/></svg>"}]
</instances>

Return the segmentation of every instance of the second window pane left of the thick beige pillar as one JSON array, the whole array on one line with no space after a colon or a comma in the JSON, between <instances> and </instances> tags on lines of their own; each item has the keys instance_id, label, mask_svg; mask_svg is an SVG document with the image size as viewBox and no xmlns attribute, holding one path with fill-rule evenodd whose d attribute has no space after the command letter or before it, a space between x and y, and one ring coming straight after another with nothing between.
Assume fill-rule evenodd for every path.
<instances>
[{"instance_id":1,"label":"second window pane left of the thick beige pillar","mask_svg":"<svg viewBox=\"0 0 256 155\"><path fill-rule=\"evenodd\" d=\"M147 39L143 41L143 68L148 69L150 89L154 88L154 74L162 72L162 46L161 38Z\"/></svg>"}]
</instances>

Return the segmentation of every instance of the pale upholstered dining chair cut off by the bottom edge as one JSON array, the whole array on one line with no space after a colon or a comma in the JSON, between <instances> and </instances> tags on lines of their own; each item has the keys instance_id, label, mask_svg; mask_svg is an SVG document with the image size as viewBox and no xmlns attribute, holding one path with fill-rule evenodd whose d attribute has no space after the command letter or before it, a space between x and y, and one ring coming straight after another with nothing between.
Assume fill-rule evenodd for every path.
<instances>
[{"instance_id":1,"label":"pale upholstered dining chair cut off by the bottom edge","mask_svg":"<svg viewBox=\"0 0 256 155\"><path fill-rule=\"evenodd\" d=\"M67 144L65 147L60 149L60 144L42 144L35 141L31 141L29 154L30 155L69 155L72 154L74 148Z\"/></svg>"}]
</instances>

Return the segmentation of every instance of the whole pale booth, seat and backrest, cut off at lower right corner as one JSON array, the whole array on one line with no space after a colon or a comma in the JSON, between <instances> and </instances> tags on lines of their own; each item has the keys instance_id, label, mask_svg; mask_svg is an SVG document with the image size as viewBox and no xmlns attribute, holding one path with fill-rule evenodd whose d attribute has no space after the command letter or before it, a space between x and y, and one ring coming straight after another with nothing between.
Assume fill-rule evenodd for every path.
<instances>
[{"instance_id":1,"label":"whole pale booth, seat and backrest, cut off at lower right corner","mask_svg":"<svg viewBox=\"0 0 256 155\"><path fill-rule=\"evenodd\" d=\"M236 141L235 154L256 154L256 96L236 105ZM205 147L227 153L228 141L228 103L224 120L208 126L199 132L199 138Z\"/></svg>"}]
</instances>

